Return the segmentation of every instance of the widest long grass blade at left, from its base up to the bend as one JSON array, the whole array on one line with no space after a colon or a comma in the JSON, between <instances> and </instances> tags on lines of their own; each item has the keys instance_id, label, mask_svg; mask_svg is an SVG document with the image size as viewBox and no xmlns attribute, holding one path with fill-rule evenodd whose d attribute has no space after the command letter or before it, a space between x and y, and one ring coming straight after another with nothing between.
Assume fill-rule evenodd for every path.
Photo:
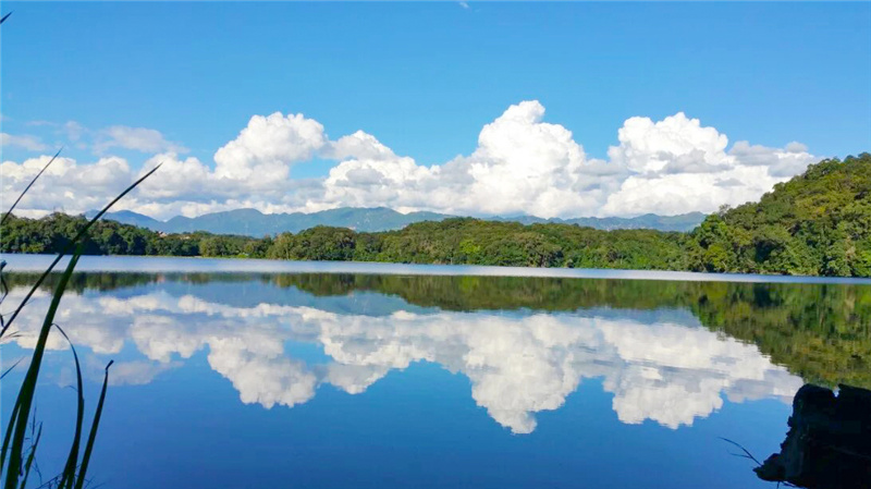
<instances>
[{"instance_id":1,"label":"widest long grass blade at left, from its base up to the bend","mask_svg":"<svg viewBox=\"0 0 871 489\"><path fill-rule=\"evenodd\" d=\"M73 254L72 259L70 259L70 264L66 266L66 270L64 270L63 274L61 276L60 282L58 283L54 294L51 297L51 304L46 313L46 318L42 321L42 328L39 330L39 337L37 338L36 345L34 346L30 366L27 368L27 374L24 376L21 390L15 399L15 407L13 408L14 415L7 425L7 438L9 437L9 431L14 430L14 432L12 435L12 445L10 447L8 465L5 466L7 474L5 481L3 484L5 489L15 489L17 487L16 482L19 474L16 467L21 467L22 464L27 419L30 416L30 407L33 406L34 395L36 393L36 381L39 377L39 367L42 365L42 356L46 352L48 333L51 331L51 325L54 323L54 315L60 306L63 292L66 290L66 284L70 282L70 277L73 276L73 270L75 270L75 266L78 264L78 258L82 256L81 252L82 247L79 246L76 248L75 254ZM5 453L5 448L7 443L4 440L3 453ZM0 466L0 469L2 468L3 467Z\"/></svg>"}]
</instances>

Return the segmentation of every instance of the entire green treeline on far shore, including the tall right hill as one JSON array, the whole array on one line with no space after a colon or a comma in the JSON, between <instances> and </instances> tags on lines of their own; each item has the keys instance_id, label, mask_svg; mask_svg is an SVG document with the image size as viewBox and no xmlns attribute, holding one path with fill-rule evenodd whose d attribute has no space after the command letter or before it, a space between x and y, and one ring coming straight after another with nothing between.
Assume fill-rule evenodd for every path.
<instances>
[{"instance_id":1,"label":"entire green treeline on far shore, including the tall right hill","mask_svg":"<svg viewBox=\"0 0 871 489\"><path fill-rule=\"evenodd\" d=\"M84 224L61 213L13 217L0 250L57 253ZM810 166L759 203L723 209L689 233L455 218L400 231L316 227L253 239L106 221L85 253L871 277L871 155Z\"/></svg>"}]
</instances>

